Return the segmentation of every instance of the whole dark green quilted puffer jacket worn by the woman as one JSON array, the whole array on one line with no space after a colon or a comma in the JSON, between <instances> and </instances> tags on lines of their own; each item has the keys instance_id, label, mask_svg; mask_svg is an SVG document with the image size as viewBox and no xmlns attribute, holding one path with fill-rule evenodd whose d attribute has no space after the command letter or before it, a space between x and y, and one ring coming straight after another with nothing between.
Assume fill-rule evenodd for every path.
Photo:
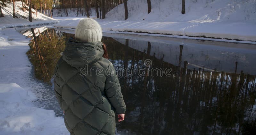
<instances>
[{"instance_id":1,"label":"whole dark green quilted puffer jacket worn by the woman","mask_svg":"<svg viewBox=\"0 0 256 135\"><path fill-rule=\"evenodd\" d=\"M114 111L125 113L116 72L103 53L101 42L71 38L57 63L54 90L71 134L114 135Z\"/></svg>"}]
</instances>

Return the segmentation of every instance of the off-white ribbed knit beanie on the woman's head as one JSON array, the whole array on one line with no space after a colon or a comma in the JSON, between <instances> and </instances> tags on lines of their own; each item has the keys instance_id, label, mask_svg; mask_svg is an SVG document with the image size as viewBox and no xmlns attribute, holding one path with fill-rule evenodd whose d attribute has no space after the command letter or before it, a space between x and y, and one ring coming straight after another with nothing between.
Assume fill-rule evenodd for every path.
<instances>
[{"instance_id":1,"label":"off-white ribbed knit beanie on the woman's head","mask_svg":"<svg viewBox=\"0 0 256 135\"><path fill-rule=\"evenodd\" d=\"M98 42L102 38L102 29L100 24L91 19L85 18L80 20L76 26L75 31L76 40L86 41L86 42Z\"/></svg>"}]
</instances>

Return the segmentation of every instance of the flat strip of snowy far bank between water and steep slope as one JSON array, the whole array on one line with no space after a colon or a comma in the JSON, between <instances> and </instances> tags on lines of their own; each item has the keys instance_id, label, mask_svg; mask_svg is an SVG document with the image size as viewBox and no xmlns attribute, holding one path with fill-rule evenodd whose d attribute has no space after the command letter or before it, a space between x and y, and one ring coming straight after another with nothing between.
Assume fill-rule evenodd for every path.
<instances>
[{"instance_id":1,"label":"flat strip of snowy far bank between water and steep slope","mask_svg":"<svg viewBox=\"0 0 256 135\"><path fill-rule=\"evenodd\" d=\"M75 29L79 20L60 22L56 28ZM60 19L60 18L59 18ZM67 19L67 18L65 18ZM254 23L190 23L190 22L146 22L146 21L102 21L97 20L103 32L126 33L150 36L168 36L186 39L202 39L256 44ZM112 32L111 32L112 31ZM247 31L247 32L243 32ZM230 40L231 39L231 40ZM249 42L248 42L249 41Z\"/></svg>"}]
</instances>

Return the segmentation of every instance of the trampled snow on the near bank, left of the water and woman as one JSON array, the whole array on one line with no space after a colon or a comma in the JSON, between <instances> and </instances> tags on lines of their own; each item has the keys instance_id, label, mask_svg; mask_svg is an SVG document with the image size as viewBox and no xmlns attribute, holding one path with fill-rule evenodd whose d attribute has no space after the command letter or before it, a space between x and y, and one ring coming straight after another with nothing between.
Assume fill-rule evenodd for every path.
<instances>
[{"instance_id":1,"label":"trampled snow on the near bank, left of the water and woman","mask_svg":"<svg viewBox=\"0 0 256 135\"><path fill-rule=\"evenodd\" d=\"M11 41L0 47L0 134L69 134L63 118L55 117L53 110L38 108L44 106L40 102L44 102L47 88L31 75L32 65L26 56L29 39L14 28L1 33ZM41 101L31 103L36 99ZM54 98L49 100L46 103Z\"/></svg>"}]
</instances>

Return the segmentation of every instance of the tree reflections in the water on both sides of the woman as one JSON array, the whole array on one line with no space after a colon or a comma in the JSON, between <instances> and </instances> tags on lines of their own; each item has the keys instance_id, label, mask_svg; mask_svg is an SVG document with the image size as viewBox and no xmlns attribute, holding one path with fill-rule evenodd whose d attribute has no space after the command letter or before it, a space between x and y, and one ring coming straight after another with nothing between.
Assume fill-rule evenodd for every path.
<instances>
[{"instance_id":1,"label":"tree reflections in the water on both sides of the woman","mask_svg":"<svg viewBox=\"0 0 256 135\"><path fill-rule=\"evenodd\" d=\"M29 44L31 50L27 54L38 79L51 79L65 40L73 36L51 29L37 37L38 50L34 42ZM127 111L125 120L116 122L118 132L128 130L131 134L152 135L255 132L255 75L243 71L235 74L205 71L204 68L187 69L186 61L181 67L182 45L179 65L175 66L164 62L164 55L161 59L154 57L155 52L149 55L150 42L148 49L141 52L129 47L130 41L126 39L125 44L121 44L110 37L102 39L115 68L125 67L128 71L119 76ZM151 76L150 70L145 70L145 76L137 72L125 76L132 68L145 67L146 59L153 62L150 68L172 68L176 76Z\"/></svg>"}]
</instances>

